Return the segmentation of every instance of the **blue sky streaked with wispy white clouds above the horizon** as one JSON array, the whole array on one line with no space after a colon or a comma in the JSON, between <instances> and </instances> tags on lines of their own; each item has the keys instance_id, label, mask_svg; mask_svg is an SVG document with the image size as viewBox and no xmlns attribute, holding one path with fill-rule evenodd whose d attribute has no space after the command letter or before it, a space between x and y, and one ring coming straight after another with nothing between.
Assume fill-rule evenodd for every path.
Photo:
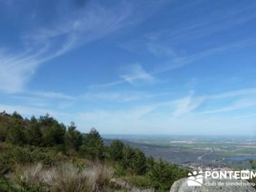
<instances>
[{"instance_id":1,"label":"blue sky streaked with wispy white clouds above the horizon","mask_svg":"<svg viewBox=\"0 0 256 192\"><path fill-rule=\"evenodd\" d=\"M0 0L0 26L0 111L256 135L256 1Z\"/></svg>"}]
</instances>

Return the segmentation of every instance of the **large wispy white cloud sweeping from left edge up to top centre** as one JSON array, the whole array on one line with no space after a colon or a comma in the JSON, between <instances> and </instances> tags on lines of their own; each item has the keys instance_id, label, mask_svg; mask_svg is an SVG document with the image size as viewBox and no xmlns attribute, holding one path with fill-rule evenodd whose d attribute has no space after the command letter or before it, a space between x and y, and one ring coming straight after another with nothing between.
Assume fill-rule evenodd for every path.
<instances>
[{"instance_id":1,"label":"large wispy white cloud sweeping from left edge up to top centre","mask_svg":"<svg viewBox=\"0 0 256 192\"><path fill-rule=\"evenodd\" d=\"M60 7L65 7L68 14L56 13L51 17L51 24L38 26L35 17L34 27L20 35L23 48L17 52L0 52L0 91L22 92L42 63L145 19L148 14L134 12L137 6L140 4L134 6L125 1L109 7L87 3L77 10L63 3ZM23 4L20 8L26 9Z\"/></svg>"}]
</instances>

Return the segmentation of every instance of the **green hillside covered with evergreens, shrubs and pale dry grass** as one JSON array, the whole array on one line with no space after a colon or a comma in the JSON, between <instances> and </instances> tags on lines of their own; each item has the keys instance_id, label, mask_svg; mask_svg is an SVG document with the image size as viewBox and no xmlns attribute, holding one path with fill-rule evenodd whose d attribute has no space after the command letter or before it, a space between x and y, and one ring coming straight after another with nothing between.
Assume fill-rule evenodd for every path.
<instances>
[{"instance_id":1,"label":"green hillside covered with evergreens, shrubs and pale dry grass","mask_svg":"<svg viewBox=\"0 0 256 192\"><path fill-rule=\"evenodd\" d=\"M186 175L120 140L104 145L94 128L81 134L48 114L0 114L0 191L168 191Z\"/></svg>"}]
</instances>

